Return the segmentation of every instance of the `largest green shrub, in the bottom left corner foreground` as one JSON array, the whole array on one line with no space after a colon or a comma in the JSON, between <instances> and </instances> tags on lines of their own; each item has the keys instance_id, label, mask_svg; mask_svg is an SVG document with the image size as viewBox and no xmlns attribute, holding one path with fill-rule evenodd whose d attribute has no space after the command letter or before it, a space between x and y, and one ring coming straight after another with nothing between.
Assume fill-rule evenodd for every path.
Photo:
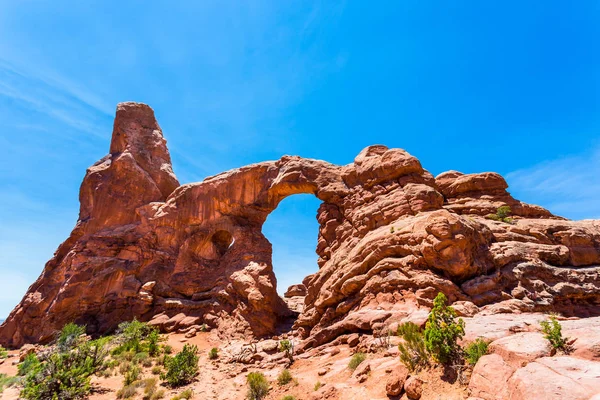
<instances>
[{"instance_id":1,"label":"largest green shrub, in the bottom left corner foreground","mask_svg":"<svg viewBox=\"0 0 600 400\"><path fill-rule=\"evenodd\" d=\"M90 392L90 378L106 369L104 359L106 340L94 341L69 339L79 337L73 333L72 327L68 328L68 335L62 335L61 346L51 353L38 367L30 371L25 379L21 397L27 400L75 400L84 399ZM66 348L66 351L61 349Z\"/></svg>"}]
</instances>

